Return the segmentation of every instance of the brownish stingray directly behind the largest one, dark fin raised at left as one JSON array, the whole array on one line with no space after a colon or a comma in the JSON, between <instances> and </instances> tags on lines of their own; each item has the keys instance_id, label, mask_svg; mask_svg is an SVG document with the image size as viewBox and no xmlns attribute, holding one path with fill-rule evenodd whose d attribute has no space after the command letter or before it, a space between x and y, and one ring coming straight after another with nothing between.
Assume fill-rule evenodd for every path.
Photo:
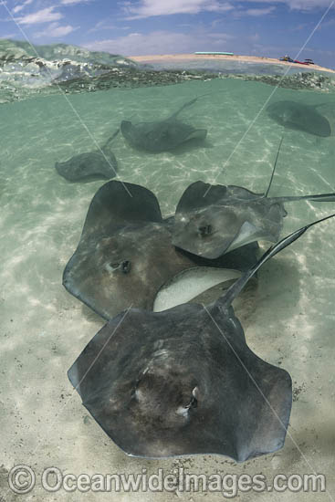
<instances>
[{"instance_id":1,"label":"brownish stingray directly behind the largest one, dark fin raised at left","mask_svg":"<svg viewBox=\"0 0 335 502\"><path fill-rule=\"evenodd\" d=\"M105 183L89 204L63 285L110 319L130 305L152 309L159 289L183 270L225 267L243 271L256 259L256 245L218 260L192 256L172 245L172 228L173 218L162 219L150 190L131 183Z\"/></svg>"}]
</instances>

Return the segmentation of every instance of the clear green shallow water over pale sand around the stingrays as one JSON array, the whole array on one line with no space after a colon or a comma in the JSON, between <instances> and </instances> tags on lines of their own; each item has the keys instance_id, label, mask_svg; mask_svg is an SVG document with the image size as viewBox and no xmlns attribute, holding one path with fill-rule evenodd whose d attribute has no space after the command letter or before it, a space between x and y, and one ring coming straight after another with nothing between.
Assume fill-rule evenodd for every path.
<instances>
[{"instance_id":1,"label":"clear green shallow water over pale sand around the stingrays","mask_svg":"<svg viewBox=\"0 0 335 502\"><path fill-rule=\"evenodd\" d=\"M104 182L68 183L56 172L55 162L94 150L95 141L106 141L120 120L164 118L189 99L208 94L183 111L183 120L208 130L204 147L148 154L131 149L119 135L113 148L119 179L152 190L163 214L173 213L184 189L197 180L261 192L267 187L283 129L265 112L251 128L250 124L273 90L259 81L193 79L65 96L34 94L1 105L0 486L5 501L16 498L6 489L6 474L16 464L31 465L37 473L56 465L77 475L141 473L142 468L150 474L159 467L167 474L184 466L188 472L208 475L263 473L269 481L277 473L316 471L327 476L328 493L285 492L285 500L323 500L334 494L334 221L314 227L262 268L253 307L244 316L249 346L265 361L285 368L294 382L289 434L276 454L242 465L215 455L128 457L89 417L67 377L69 366L104 324L61 285L89 201ZM273 99L330 105L335 101L334 94L319 89L277 89ZM271 194L335 191L334 158L334 136L285 131ZM284 233L333 212L331 203L289 204ZM243 314L243 305L239 309ZM32 495L38 501L46 499L38 480L34 492L22 499ZM198 501L206 494L176 495ZM85 496L61 490L47 497L72 501ZM87 495L88 500L91 497ZM107 500L110 494L97 497ZM175 495L113 497L165 501ZM239 497L277 500L279 494L249 492ZM220 493L208 494L210 500L222 498Z\"/></svg>"}]
</instances>

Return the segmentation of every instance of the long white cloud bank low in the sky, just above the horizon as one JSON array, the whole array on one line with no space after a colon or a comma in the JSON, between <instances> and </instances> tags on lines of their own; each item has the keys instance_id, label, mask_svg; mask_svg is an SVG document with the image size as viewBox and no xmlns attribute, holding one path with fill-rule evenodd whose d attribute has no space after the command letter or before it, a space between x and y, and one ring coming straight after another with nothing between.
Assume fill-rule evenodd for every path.
<instances>
[{"instance_id":1,"label":"long white cloud bank low in the sky, just above the horizon","mask_svg":"<svg viewBox=\"0 0 335 502\"><path fill-rule=\"evenodd\" d=\"M98 40L84 44L89 50L102 50L111 54L124 56L145 56L147 54L175 54L180 52L194 52L199 47L206 50L214 49L217 45L225 45L234 37L225 33L207 34L204 30L194 31L190 34L171 31L153 31L152 33L130 33L126 37Z\"/></svg>"}]
</instances>

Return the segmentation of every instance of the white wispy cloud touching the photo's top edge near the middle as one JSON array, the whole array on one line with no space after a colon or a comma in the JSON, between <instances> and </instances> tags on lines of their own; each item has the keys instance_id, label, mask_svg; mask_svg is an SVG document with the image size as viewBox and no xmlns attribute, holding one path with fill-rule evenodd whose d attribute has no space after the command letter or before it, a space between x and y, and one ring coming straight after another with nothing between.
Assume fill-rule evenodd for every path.
<instances>
[{"instance_id":1,"label":"white wispy cloud touching the photo's top edge near the middle","mask_svg":"<svg viewBox=\"0 0 335 502\"><path fill-rule=\"evenodd\" d=\"M137 5L127 1L122 9L127 19L141 19L173 14L199 14L200 12L227 12L234 8L229 2L219 0L140 0Z\"/></svg>"}]
</instances>

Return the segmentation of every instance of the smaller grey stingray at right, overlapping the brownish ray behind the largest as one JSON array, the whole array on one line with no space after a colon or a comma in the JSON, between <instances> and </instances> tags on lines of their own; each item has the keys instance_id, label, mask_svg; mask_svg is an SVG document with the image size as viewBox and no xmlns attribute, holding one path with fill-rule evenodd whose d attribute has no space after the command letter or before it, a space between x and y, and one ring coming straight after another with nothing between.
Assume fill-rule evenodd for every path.
<instances>
[{"instance_id":1,"label":"smaller grey stingray at right, overlapping the brownish ray behind the largest","mask_svg":"<svg viewBox=\"0 0 335 502\"><path fill-rule=\"evenodd\" d=\"M284 203L335 201L335 193L268 197L276 165L277 159L266 193L235 185L192 183L177 205L173 245L213 259L258 240L275 243L287 215Z\"/></svg>"}]
</instances>

